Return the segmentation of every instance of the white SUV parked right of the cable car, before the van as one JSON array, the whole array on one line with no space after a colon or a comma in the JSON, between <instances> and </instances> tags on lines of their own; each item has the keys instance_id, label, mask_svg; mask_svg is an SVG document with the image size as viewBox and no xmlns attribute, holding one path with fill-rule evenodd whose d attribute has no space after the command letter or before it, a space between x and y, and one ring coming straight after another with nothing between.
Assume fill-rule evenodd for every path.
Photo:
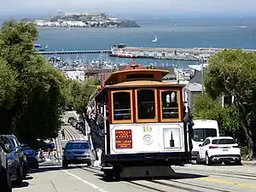
<instances>
[{"instance_id":1,"label":"white SUV parked right of the cable car, before the van","mask_svg":"<svg viewBox=\"0 0 256 192\"><path fill-rule=\"evenodd\" d=\"M211 165L224 162L225 165L230 165L233 162L241 165L241 151L232 137L207 137L199 147L197 164L206 162L207 165Z\"/></svg>"}]
</instances>

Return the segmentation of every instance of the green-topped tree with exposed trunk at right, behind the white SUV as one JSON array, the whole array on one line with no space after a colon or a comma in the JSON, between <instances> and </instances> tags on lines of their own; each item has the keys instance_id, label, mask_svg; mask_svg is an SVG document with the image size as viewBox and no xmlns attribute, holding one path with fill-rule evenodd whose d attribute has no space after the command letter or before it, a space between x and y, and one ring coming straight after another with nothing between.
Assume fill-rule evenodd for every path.
<instances>
[{"instance_id":1,"label":"green-topped tree with exposed trunk at right, behind the white SUV","mask_svg":"<svg viewBox=\"0 0 256 192\"><path fill-rule=\"evenodd\" d=\"M235 96L239 123L247 138L248 158L256 155L256 54L224 50L213 55L205 76L206 91L213 99Z\"/></svg>"}]
</instances>

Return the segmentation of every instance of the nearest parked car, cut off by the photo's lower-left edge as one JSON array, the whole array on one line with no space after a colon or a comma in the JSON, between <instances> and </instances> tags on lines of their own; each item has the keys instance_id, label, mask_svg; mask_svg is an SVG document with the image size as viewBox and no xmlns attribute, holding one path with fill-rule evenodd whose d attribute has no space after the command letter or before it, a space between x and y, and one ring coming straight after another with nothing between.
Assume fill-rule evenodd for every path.
<instances>
[{"instance_id":1,"label":"nearest parked car, cut off by the photo's lower-left edge","mask_svg":"<svg viewBox=\"0 0 256 192\"><path fill-rule=\"evenodd\" d=\"M0 191L3 192L12 192L7 159L7 154L9 154L11 150L9 139L0 135Z\"/></svg>"}]
</instances>

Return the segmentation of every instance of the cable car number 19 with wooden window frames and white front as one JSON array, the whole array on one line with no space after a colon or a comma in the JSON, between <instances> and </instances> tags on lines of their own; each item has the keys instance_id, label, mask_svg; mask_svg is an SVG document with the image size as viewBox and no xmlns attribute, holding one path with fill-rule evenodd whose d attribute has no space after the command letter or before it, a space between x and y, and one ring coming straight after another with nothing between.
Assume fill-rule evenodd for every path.
<instances>
[{"instance_id":1,"label":"cable car number 19 with wooden window frames and white front","mask_svg":"<svg viewBox=\"0 0 256 192\"><path fill-rule=\"evenodd\" d=\"M91 97L89 106L108 118L101 169L107 177L171 176L171 166L191 160L184 84L162 82L167 73L132 63Z\"/></svg>"}]
</instances>

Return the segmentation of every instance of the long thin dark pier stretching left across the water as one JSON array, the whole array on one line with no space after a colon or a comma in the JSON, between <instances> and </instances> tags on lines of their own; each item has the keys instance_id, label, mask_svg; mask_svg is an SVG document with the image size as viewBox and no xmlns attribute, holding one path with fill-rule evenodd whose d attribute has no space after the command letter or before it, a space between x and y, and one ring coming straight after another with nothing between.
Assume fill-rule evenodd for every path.
<instances>
[{"instance_id":1,"label":"long thin dark pier stretching left across the water","mask_svg":"<svg viewBox=\"0 0 256 192\"><path fill-rule=\"evenodd\" d=\"M55 50L38 51L40 55L111 54L111 50Z\"/></svg>"}]
</instances>

